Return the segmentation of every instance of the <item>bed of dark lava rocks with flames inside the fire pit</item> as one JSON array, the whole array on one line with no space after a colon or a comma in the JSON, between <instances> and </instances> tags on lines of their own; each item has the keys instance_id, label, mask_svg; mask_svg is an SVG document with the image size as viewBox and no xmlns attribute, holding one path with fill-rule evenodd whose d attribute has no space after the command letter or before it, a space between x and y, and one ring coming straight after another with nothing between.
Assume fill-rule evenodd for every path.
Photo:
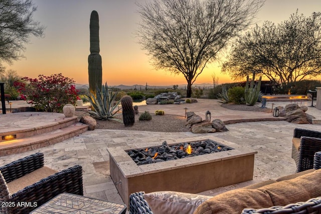
<instances>
[{"instance_id":1,"label":"bed of dark lava rocks with flames inside the fire pit","mask_svg":"<svg viewBox=\"0 0 321 214\"><path fill-rule=\"evenodd\" d=\"M127 154L137 165L158 163L168 160L177 160L185 157L210 154L221 151L232 150L233 148L219 144L210 139L195 142L185 142L170 146L166 141L162 146L149 147L145 149L132 149Z\"/></svg>"}]
</instances>

